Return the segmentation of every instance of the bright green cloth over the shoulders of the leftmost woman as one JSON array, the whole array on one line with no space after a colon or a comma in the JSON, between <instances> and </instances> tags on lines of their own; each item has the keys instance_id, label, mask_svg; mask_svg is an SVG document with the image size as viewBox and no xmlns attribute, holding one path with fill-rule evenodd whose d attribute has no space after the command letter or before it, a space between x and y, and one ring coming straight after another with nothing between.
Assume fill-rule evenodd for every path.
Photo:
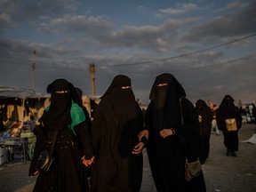
<instances>
[{"instance_id":1,"label":"bright green cloth over the shoulders of the leftmost woman","mask_svg":"<svg viewBox=\"0 0 256 192\"><path fill-rule=\"evenodd\" d=\"M49 108L50 108L50 105L47 106L45 110L48 111ZM72 123L69 124L69 128L76 135L74 127L76 126L76 124L81 124L82 122L85 121L85 115L84 115L83 108L79 107L77 103L75 103L73 100L72 100L72 106L70 109L70 116L71 116Z\"/></svg>"}]
</instances>

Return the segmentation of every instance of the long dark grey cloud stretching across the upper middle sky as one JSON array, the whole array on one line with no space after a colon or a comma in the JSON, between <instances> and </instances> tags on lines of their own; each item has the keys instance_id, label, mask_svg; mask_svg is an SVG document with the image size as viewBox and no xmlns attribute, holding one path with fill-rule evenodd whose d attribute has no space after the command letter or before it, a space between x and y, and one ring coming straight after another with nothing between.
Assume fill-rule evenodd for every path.
<instances>
[{"instance_id":1,"label":"long dark grey cloud stretching across the upper middle sky","mask_svg":"<svg viewBox=\"0 0 256 192\"><path fill-rule=\"evenodd\" d=\"M198 18L165 20L160 26L124 26L117 29L115 22L103 17L65 14L42 23L38 30L51 31L52 34L60 34L60 36L76 34L91 46L99 44L101 49L130 47L165 52L170 48L173 40L177 40L177 30L180 26L195 20Z\"/></svg>"}]
</instances>

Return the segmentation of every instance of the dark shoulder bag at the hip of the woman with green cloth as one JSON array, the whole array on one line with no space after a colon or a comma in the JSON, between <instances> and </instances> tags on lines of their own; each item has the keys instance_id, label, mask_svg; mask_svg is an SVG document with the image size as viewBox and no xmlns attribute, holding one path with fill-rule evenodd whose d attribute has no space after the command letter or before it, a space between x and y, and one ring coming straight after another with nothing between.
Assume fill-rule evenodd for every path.
<instances>
[{"instance_id":1,"label":"dark shoulder bag at the hip of the woman with green cloth","mask_svg":"<svg viewBox=\"0 0 256 192\"><path fill-rule=\"evenodd\" d=\"M53 163L53 158L49 155L48 150L43 150L37 158L36 170L39 172L48 172Z\"/></svg>"}]
</instances>

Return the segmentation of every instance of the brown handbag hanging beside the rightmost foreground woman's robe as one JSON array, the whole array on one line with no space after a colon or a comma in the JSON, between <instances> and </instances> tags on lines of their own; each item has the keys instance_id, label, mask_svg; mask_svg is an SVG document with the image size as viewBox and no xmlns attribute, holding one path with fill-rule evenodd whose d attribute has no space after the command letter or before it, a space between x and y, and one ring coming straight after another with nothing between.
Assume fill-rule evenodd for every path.
<instances>
[{"instance_id":1,"label":"brown handbag hanging beside the rightmost foreground woman's robe","mask_svg":"<svg viewBox=\"0 0 256 192\"><path fill-rule=\"evenodd\" d=\"M196 177L198 177L202 172L202 167L200 164L200 161L197 160L196 162L191 162L188 163L186 162L185 164L185 179L186 180L192 180Z\"/></svg>"}]
</instances>

